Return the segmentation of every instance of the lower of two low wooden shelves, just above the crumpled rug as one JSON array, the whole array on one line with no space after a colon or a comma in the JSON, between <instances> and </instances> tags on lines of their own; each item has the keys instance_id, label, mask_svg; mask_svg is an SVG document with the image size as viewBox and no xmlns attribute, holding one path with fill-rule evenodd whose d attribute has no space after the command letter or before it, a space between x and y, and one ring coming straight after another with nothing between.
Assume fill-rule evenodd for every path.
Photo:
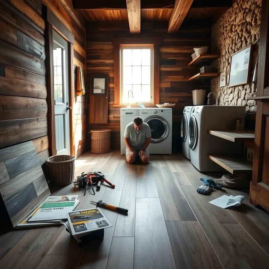
<instances>
[{"instance_id":1,"label":"lower of two low wooden shelves, just above the crumpled rug","mask_svg":"<svg viewBox=\"0 0 269 269\"><path fill-rule=\"evenodd\" d=\"M247 163L242 155L207 154L207 157L231 174L250 174L252 172L252 164Z\"/></svg>"}]
</instances>

